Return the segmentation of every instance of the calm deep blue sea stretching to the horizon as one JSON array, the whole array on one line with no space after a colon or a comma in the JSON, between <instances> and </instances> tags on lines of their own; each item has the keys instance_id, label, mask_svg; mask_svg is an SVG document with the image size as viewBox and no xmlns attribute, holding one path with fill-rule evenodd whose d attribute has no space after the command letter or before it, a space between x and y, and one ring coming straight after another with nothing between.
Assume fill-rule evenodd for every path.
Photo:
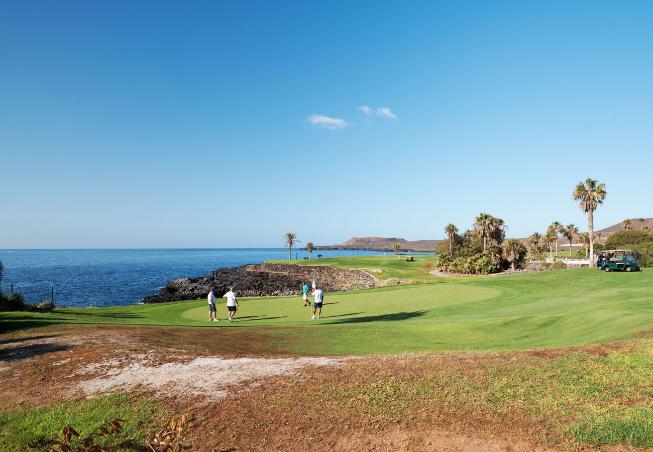
<instances>
[{"instance_id":1,"label":"calm deep blue sea stretching to the horizon","mask_svg":"<svg viewBox=\"0 0 653 452\"><path fill-rule=\"evenodd\" d=\"M383 254L377 251L313 251L324 257ZM293 251L299 259L306 251ZM170 280L195 278L216 268L287 259L284 248L157 250L0 250L3 291L19 291L28 302L50 299L57 306L120 306L140 302Z\"/></svg>"}]
</instances>

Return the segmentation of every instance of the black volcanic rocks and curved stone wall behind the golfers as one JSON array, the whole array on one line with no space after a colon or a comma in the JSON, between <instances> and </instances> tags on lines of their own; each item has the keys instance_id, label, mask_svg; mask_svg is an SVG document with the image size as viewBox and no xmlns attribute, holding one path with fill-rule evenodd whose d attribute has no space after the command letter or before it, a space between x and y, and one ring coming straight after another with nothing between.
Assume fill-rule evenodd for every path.
<instances>
[{"instance_id":1,"label":"black volcanic rocks and curved stone wall behind the golfers","mask_svg":"<svg viewBox=\"0 0 653 452\"><path fill-rule=\"evenodd\" d=\"M330 265L248 264L235 268L218 268L210 275L182 278L168 282L159 293L143 299L144 303L197 300L206 298L213 289L221 297L234 287L238 297L289 297L301 295L301 287L315 282L325 292L372 287L374 276L362 270L334 268Z\"/></svg>"}]
</instances>

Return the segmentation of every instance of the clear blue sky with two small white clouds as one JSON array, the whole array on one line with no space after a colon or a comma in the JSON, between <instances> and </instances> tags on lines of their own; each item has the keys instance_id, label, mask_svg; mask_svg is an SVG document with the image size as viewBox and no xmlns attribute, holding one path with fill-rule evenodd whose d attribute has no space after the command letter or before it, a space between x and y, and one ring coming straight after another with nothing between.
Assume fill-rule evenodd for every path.
<instances>
[{"instance_id":1,"label":"clear blue sky with two small white clouds","mask_svg":"<svg viewBox=\"0 0 653 452\"><path fill-rule=\"evenodd\" d=\"M597 227L651 217L652 23L651 2L5 2L0 248L418 240L479 212L584 230L588 176Z\"/></svg>"}]
</instances>

